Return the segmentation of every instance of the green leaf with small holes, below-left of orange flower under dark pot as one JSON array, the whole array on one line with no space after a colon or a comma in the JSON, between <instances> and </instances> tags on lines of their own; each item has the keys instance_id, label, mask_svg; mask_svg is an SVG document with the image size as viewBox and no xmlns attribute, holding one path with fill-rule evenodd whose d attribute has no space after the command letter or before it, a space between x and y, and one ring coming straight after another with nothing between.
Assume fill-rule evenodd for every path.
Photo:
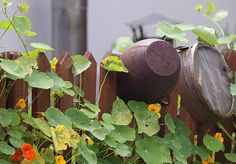
<instances>
[{"instance_id":1,"label":"green leaf with small holes, below-left of orange flower under dark pot","mask_svg":"<svg viewBox=\"0 0 236 164\"><path fill-rule=\"evenodd\" d=\"M138 124L138 133L146 133L148 136L153 136L160 130L158 117L154 112L145 109L135 112L134 117Z\"/></svg>"}]
</instances>

